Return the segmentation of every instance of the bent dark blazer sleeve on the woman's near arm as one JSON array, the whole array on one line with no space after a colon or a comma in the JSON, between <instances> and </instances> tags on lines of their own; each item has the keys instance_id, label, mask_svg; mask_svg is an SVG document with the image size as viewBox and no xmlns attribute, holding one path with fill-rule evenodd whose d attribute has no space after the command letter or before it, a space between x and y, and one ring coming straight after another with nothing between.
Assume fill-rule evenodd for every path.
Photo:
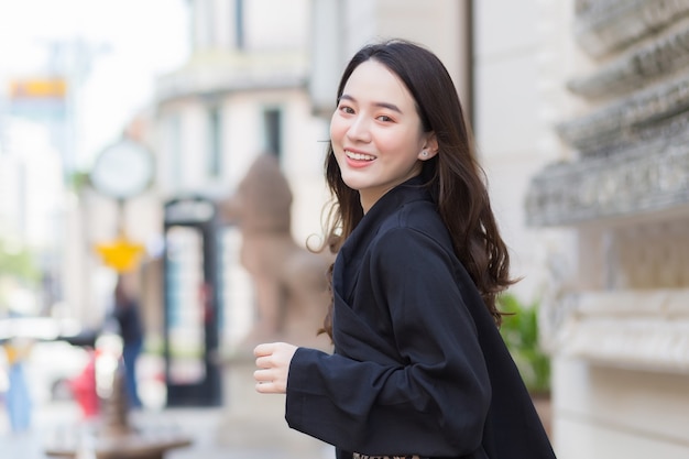
<instances>
[{"instance_id":1,"label":"bent dark blazer sleeve on the woman's near arm","mask_svg":"<svg viewBox=\"0 0 689 459\"><path fill-rule=\"evenodd\" d=\"M428 236L387 231L368 264L390 313L400 363L298 349L289 369L291 427L365 455L483 457L491 389L457 260ZM363 275L363 273L361 274Z\"/></svg>"}]
</instances>

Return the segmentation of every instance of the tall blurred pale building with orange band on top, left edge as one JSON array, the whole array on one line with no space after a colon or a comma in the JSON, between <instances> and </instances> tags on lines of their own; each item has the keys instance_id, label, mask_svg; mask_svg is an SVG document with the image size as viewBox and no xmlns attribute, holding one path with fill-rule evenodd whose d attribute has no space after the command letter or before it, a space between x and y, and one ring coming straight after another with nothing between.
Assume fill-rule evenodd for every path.
<instances>
[{"instance_id":1,"label":"tall blurred pale building with orange band on top, left edge","mask_svg":"<svg viewBox=\"0 0 689 459\"><path fill-rule=\"evenodd\" d=\"M46 287L42 292L36 288L40 282L28 278L0 286L0 316L6 308L41 314L58 297L62 267L63 250L55 236L62 233L65 206L66 84L64 78L41 74L0 83L0 241L4 243L0 250L8 252L4 256L12 256L12 251L30 253ZM0 273L0 284L9 277ZM28 300L19 306L8 295Z\"/></svg>"}]
</instances>

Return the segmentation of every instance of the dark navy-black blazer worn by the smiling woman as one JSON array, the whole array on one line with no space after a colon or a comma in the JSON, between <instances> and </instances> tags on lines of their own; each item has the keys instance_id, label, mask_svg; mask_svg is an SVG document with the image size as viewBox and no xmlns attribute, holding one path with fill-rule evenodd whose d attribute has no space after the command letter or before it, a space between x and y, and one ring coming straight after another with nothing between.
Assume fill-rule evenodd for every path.
<instances>
[{"instance_id":1,"label":"dark navy-black blazer worn by the smiling woman","mask_svg":"<svg viewBox=\"0 0 689 459\"><path fill-rule=\"evenodd\" d=\"M292 360L292 428L338 458L555 458L419 178L364 216L338 253L333 294L335 353L299 348Z\"/></svg>"}]
</instances>

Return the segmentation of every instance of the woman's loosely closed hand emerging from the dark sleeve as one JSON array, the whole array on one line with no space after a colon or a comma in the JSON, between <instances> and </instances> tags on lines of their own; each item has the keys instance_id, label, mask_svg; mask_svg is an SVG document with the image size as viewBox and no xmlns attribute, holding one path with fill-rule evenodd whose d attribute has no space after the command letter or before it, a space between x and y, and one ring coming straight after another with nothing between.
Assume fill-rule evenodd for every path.
<instances>
[{"instance_id":1,"label":"woman's loosely closed hand emerging from the dark sleeve","mask_svg":"<svg viewBox=\"0 0 689 459\"><path fill-rule=\"evenodd\" d=\"M262 394L284 394L287 392L287 376L289 363L297 347L286 342L269 342L259 345L253 350L256 357L256 367L253 379L256 380L256 391Z\"/></svg>"}]
</instances>

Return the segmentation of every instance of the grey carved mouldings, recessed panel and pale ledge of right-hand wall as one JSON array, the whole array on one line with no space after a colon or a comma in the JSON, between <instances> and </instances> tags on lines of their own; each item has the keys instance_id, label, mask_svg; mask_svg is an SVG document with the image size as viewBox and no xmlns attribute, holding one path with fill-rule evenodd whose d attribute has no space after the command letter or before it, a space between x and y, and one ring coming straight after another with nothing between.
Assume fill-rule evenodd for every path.
<instances>
[{"instance_id":1,"label":"grey carved mouldings, recessed panel and pale ledge of right-hand wall","mask_svg":"<svg viewBox=\"0 0 689 459\"><path fill-rule=\"evenodd\" d=\"M689 0L575 6L598 68L568 88L590 111L557 125L578 156L533 177L526 219L605 243L581 238L554 261L544 338L605 365L689 373ZM583 286L582 260L604 264L598 282Z\"/></svg>"}]
</instances>

